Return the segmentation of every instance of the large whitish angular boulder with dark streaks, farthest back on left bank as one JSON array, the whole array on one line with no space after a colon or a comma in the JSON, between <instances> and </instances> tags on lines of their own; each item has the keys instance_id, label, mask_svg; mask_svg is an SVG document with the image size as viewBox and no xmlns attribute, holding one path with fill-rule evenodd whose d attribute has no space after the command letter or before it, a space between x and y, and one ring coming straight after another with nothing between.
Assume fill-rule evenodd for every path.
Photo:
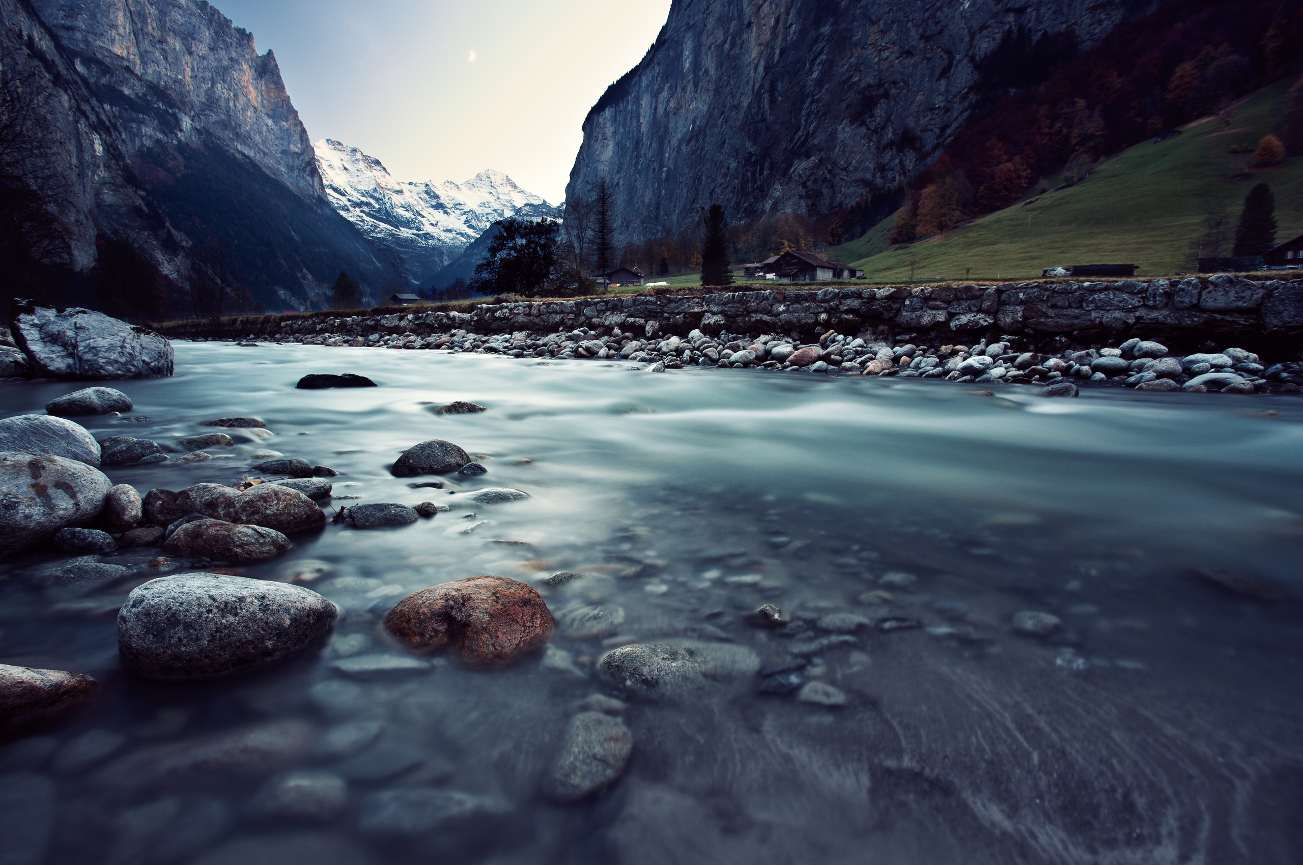
<instances>
[{"instance_id":1,"label":"large whitish angular boulder with dark streaks, farthest back on left bank","mask_svg":"<svg viewBox=\"0 0 1303 865\"><path fill-rule=\"evenodd\" d=\"M63 379L172 375L172 344L145 328L87 309L57 311L20 301L13 335L34 371Z\"/></svg>"}]
</instances>

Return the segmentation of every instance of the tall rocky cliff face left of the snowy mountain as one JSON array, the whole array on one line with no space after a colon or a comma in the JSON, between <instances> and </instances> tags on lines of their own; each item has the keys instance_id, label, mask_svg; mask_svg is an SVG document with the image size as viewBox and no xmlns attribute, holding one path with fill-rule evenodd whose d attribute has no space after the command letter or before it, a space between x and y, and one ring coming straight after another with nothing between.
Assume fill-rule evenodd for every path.
<instances>
[{"instance_id":1,"label":"tall rocky cliff face left of the snowy mountain","mask_svg":"<svg viewBox=\"0 0 1303 865\"><path fill-rule=\"evenodd\" d=\"M7 76L42 94L66 249L126 236L179 284L222 244L267 306L319 304L339 270L396 268L326 197L276 59L202 0L0 0ZM374 293L374 292L373 292Z\"/></svg>"}]
</instances>

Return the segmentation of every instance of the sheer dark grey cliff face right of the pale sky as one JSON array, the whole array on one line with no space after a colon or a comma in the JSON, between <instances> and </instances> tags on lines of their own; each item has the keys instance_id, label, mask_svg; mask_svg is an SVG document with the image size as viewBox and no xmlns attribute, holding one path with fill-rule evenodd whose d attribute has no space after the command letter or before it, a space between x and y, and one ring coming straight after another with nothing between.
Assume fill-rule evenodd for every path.
<instances>
[{"instance_id":1,"label":"sheer dark grey cliff face right of the pale sky","mask_svg":"<svg viewBox=\"0 0 1303 865\"><path fill-rule=\"evenodd\" d=\"M605 176L624 244L694 225L715 202L739 221L881 195L963 124L1007 34L1088 46L1141 5L674 0L655 44L589 112L567 199Z\"/></svg>"}]
</instances>

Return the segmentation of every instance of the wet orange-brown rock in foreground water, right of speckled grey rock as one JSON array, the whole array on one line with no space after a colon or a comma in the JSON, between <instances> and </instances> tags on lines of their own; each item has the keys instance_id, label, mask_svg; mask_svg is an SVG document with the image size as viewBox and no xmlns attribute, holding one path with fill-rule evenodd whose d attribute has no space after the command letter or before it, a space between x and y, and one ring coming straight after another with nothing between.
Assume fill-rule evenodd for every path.
<instances>
[{"instance_id":1,"label":"wet orange-brown rock in foreground water, right of speckled grey rock","mask_svg":"<svg viewBox=\"0 0 1303 865\"><path fill-rule=\"evenodd\" d=\"M451 645L472 667L503 667L551 640L552 614L533 586L482 576L409 594L384 627L417 651Z\"/></svg>"}]
</instances>

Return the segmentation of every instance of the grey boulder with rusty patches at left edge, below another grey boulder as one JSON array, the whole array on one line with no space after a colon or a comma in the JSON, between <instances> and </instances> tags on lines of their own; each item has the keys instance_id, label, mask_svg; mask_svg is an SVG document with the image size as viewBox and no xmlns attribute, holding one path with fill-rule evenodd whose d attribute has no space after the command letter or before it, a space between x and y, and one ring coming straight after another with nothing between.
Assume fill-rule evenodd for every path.
<instances>
[{"instance_id":1,"label":"grey boulder with rusty patches at left edge, below another grey boulder","mask_svg":"<svg viewBox=\"0 0 1303 865\"><path fill-rule=\"evenodd\" d=\"M48 453L0 452L0 559L98 517L112 486L85 462Z\"/></svg>"}]
</instances>

